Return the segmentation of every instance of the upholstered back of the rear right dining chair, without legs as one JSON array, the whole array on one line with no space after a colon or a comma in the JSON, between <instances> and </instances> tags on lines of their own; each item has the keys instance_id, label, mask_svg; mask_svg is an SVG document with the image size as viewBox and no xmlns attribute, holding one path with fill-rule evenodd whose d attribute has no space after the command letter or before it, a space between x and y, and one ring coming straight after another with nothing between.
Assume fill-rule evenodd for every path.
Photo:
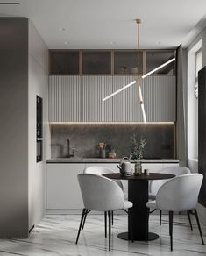
<instances>
[{"instance_id":1,"label":"upholstered back of the rear right dining chair, without legs","mask_svg":"<svg viewBox=\"0 0 206 256\"><path fill-rule=\"evenodd\" d=\"M188 167L166 167L160 170L161 174L174 174L175 176L180 176L184 174L191 174ZM150 183L150 193L154 196L157 195L160 187L165 184L168 180L158 180L151 181Z\"/></svg>"}]
</instances>

